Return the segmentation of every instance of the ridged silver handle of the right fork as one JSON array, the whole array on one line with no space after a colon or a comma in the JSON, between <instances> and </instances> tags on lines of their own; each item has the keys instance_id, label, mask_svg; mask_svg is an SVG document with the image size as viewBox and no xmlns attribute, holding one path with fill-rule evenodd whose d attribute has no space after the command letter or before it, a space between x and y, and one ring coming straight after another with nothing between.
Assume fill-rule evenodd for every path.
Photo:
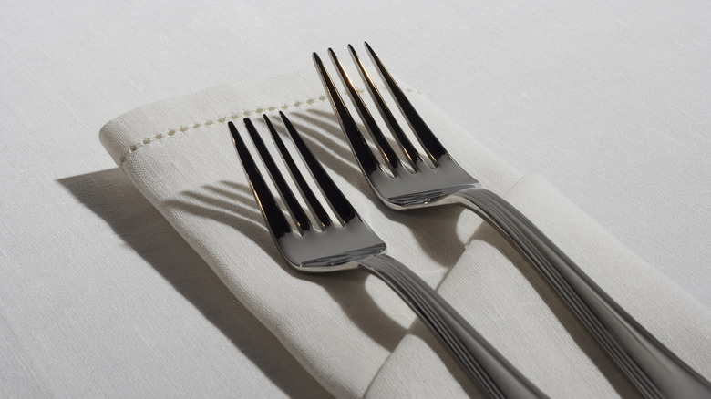
<instances>
[{"instance_id":1,"label":"ridged silver handle of the right fork","mask_svg":"<svg viewBox=\"0 0 711 399\"><path fill-rule=\"evenodd\" d=\"M459 193L462 204L503 231L558 292L646 397L711 397L711 384L657 341L531 220L487 189Z\"/></svg>"}]
</instances>

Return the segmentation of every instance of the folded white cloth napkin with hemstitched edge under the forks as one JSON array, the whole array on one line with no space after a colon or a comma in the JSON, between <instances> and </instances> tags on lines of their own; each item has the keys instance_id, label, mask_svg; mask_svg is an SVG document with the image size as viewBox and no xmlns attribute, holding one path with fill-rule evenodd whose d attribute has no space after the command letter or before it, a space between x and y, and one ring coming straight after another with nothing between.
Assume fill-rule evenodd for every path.
<instances>
[{"instance_id":1,"label":"folded white cloth napkin with hemstitched edge under the forks","mask_svg":"<svg viewBox=\"0 0 711 399\"><path fill-rule=\"evenodd\" d=\"M540 176L523 177L408 89L459 164L526 214L583 271L699 373L711 312L628 251ZM479 395L386 285L363 271L290 269L256 208L227 122L285 112L388 253L416 271L543 392L634 396L544 281L469 211L396 212L354 163L314 71L213 87L132 110L100 139L129 179L257 319L339 397ZM282 129L278 118L273 119ZM267 140L269 141L269 140Z\"/></svg>"}]
</instances>

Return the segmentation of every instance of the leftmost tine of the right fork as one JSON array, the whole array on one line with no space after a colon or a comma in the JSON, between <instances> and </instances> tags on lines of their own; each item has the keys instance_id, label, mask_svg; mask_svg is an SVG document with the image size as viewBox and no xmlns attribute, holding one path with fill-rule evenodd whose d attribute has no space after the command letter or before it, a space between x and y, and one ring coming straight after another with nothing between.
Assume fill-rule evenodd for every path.
<instances>
[{"instance_id":1,"label":"leftmost tine of the right fork","mask_svg":"<svg viewBox=\"0 0 711 399\"><path fill-rule=\"evenodd\" d=\"M341 127L345 131L345 136L351 143L351 148L353 148L353 152L356 154L356 159L358 159L358 163L366 175L370 175L378 168L376 157L370 151L370 148L368 148L366 138L363 137L363 134L361 134L356 126L356 121L353 120L350 112L348 112L348 108L345 107L343 99L335 89L334 81L328 76L328 72L326 72L321 58L316 53L314 53L313 56L318 74L321 76L321 81L324 82L325 91L328 93L328 97L331 99L331 105L334 107L335 115L338 116Z\"/></svg>"}]
</instances>

